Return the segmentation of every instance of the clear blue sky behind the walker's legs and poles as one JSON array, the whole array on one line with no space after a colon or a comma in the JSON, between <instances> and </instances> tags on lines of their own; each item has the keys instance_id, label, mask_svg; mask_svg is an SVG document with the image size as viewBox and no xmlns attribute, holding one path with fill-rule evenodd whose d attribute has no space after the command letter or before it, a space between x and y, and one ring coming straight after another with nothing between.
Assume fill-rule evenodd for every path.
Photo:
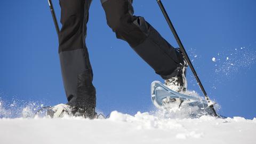
<instances>
[{"instance_id":1,"label":"clear blue sky behind the walker's legs and poles","mask_svg":"<svg viewBox=\"0 0 256 144\"><path fill-rule=\"evenodd\" d=\"M162 2L207 93L220 104L220 114L256 117L256 2ZM59 20L59 2L53 3ZM178 46L156 1L134 0L133 6L135 15L145 17L167 41ZM0 19L2 101L66 103L58 39L47 0L3 1ZM99 0L92 2L87 33L97 108L105 114L152 110L150 83L162 79L127 43L115 38ZM188 82L190 90L200 92L191 71Z\"/></svg>"}]
</instances>

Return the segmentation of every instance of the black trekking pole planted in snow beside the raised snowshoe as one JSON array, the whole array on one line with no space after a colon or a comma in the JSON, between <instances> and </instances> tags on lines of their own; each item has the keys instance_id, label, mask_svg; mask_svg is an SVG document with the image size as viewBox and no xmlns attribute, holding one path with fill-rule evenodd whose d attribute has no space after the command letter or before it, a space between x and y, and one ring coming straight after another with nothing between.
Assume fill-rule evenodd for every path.
<instances>
[{"instance_id":1,"label":"black trekking pole planted in snow beside the raised snowshoe","mask_svg":"<svg viewBox=\"0 0 256 144\"><path fill-rule=\"evenodd\" d=\"M195 68L193 67L193 65L192 65L192 63L191 63L191 61L190 61L190 59L189 59L189 57L188 57L188 54L187 54L187 52L186 52L184 46L182 45L182 43L181 43L181 41L180 41L180 38L179 38L179 36L178 36L176 30L174 29L174 27L173 27L173 25L172 25L172 22L171 22L171 20L170 20L170 18L169 18L169 16L168 16L167 12L166 12L165 9L164 9L164 6L163 6L161 0L156 0L156 1L157 1L158 5L159 5L161 11L162 11L163 14L164 14L164 18L166 19L166 21L167 21L169 27L171 28L172 33L173 33L173 35L174 35L176 41L177 41L178 44L179 44L179 47L180 47L181 52L183 53L185 59L186 59L187 62L188 62L188 65L189 65L190 69L192 70L192 72L193 72L193 74L194 74L194 76L195 76L195 78L196 78L196 81L197 81L198 85L200 86L201 90L202 90L203 93L204 93L204 98L205 98L206 101L208 102L208 106L212 109L214 116L218 116L217 113L216 113L216 111L215 111L215 109L214 109L214 107L213 107L212 101L210 100L210 98L208 97L206 91L204 90L203 84L201 83L199 77L197 76L196 70L195 70Z\"/></svg>"}]
</instances>

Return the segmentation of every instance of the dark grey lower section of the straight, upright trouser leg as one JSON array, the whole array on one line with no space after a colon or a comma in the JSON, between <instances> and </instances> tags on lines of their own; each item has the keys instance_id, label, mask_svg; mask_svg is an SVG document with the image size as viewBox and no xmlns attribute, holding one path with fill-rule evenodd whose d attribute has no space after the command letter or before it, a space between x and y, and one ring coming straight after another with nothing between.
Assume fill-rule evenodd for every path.
<instances>
[{"instance_id":1,"label":"dark grey lower section of the straight, upright trouser leg","mask_svg":"<svg viewBox=\"0 0 256 144\"><path fill-rule=\"evenodd\" d=\"M95 107L93 73L86 48L59 53L61 72L68 105Z\"/></svg>"}]
</instances>

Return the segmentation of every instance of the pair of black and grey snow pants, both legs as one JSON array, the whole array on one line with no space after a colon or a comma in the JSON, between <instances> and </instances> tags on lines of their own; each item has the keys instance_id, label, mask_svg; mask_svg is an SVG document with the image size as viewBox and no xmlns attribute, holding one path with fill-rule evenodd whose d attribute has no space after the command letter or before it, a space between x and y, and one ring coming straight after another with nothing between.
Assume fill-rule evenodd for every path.
<instances>
[{"instance_id":1,"label":"pair of black and grey snow pants, both legs","mask_svg":"<svg viewBox=\"0 0 256 144\"><path fill-rule=\"evenodd\" d=\"M101 0L107 24L163 79L176 75L183 63L174 49L143 17L133 15L132 0ZM68 105L95 107L93 73L85 37L91 0L60 0L62 28L59 56Z\"/></svg>"}]
</instances>

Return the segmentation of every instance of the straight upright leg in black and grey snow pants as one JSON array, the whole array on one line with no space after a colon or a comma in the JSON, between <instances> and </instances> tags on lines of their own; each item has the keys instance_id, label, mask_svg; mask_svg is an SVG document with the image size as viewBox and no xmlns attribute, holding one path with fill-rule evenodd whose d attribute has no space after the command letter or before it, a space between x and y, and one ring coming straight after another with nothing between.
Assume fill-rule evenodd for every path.
<instances>
[{"instance_id":1,"label":"straight upright leg in black and grey snow pants","mask_svg":"<svg viewBox=\"0 0 256 144\"><path fill-rule=\"evenodd\" d=\"M85 45L90 4L91 0L60 0L59 56L67 104L84 109L96 105L93 73Z\"/></svg>"}]
</instances>

